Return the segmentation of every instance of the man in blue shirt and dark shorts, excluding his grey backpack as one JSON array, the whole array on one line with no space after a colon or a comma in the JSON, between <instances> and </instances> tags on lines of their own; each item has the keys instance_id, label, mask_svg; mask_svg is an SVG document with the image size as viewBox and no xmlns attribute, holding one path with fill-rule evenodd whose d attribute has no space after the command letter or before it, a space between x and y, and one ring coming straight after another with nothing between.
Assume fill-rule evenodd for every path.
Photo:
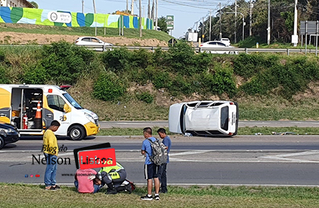
<instances>
[{"instance_id":1,"label":"man in blue shirt and dark shorts, excluding his grey backpack","mask_svg":"<svg viewBox=\"0 0 319 208\"><path fill-rule=\"evenodd\" d=\"M152 129L150 127L146 127L143 129L143 135L145 140L142 142L141 154L145 156L145 164L144 164L144 175L147 180L147 195L144 197L140 197L141 200L153 200L152 198L152 187L154 180L155 185L155 200L159 200L159 178L157 175L157 171L159 166L155 165L150 160L150 156L152 156L152 146L151 141L156 141L155 137L152 137Z\"/></svg>"}]
</instances>

